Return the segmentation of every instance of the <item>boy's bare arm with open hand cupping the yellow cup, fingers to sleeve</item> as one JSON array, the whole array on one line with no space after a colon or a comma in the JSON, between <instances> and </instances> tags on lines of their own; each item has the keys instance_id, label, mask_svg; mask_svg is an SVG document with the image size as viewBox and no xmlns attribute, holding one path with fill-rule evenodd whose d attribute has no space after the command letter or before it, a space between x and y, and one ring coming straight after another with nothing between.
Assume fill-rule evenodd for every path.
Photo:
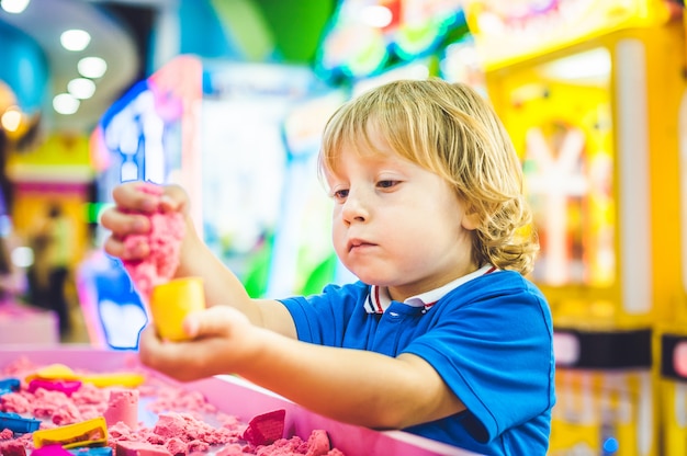
<instances>
[{"instance_id":1,"label":"boy's bare arm with open hand cupping the yellow cup, fingers to sleeve","mask_svg":"<svg viewBox=\"0 0 687 456\"><path fill-rule=\"evenodd\" d=\"M274 305L281 306L280 303ZM142 333L144 364L179 380L238 374L317 413L376 429L403 429L464 410L424 360L322 346L251 326L216 306L185 321L189 342Z\"/></svg>"}]
</instances>

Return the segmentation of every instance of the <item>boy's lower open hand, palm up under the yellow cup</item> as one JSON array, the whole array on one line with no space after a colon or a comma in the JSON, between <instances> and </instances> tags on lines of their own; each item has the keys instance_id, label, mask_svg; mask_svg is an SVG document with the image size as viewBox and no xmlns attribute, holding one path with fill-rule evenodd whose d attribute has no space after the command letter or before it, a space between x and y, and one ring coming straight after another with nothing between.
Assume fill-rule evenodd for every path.
<instances>
[{"instance_id":1,"label":"boy's lower open hand, palm up under the yellow cup","mask_svg":"<svg viewBox=\"0 0 687 456\"><path fill-rule=\"evenodd\" d=\"M149 324L140 333L140 362L180 381L218 374L234 374L255 358L260 342L258 327L229 306L189 314L184 320L188 341L164 341Z\"/></svg>"}]
</instances>

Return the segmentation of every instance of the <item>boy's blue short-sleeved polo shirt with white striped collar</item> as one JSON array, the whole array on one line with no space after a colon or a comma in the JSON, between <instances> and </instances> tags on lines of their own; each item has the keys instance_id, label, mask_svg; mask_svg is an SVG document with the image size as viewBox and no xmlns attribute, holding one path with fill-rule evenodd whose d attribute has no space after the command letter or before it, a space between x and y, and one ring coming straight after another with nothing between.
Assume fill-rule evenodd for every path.
<instances>
[{"instance_id":1,"label":"boy's blue short-sleeved polo shirt with white striped collar","mask_svg":"<svg viewBox=\"0 0 687 456\"><path fill-rule=\"evenodd\" d=\"M388 300L374 310L379 290L361 282L328 285L319 295L281 301L301 341L394 357L413 353L468 409L405 431L487 455L547 454L553 327L531 282L496 271L457 283L436 303Z\"/></svg>"}]
</instances>

